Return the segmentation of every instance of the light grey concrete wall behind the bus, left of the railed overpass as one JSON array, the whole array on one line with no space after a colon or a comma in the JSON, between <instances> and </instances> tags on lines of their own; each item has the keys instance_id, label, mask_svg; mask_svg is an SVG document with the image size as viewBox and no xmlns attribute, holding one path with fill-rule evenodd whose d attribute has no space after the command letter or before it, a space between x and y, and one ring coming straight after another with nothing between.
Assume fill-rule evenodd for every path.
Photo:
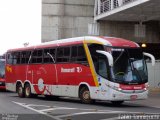
<instances>
[{"instance_id":1,"label":"light grey concrete wall behind the bus, left of the railed overpass","mask_svg":"<svg viewBox=\"0 0 160 120\"><path fill-rule=\"evenodd\" d=\"M42 42L88 35L94 0L43 0Z\"/></svg>"}]
</instances>

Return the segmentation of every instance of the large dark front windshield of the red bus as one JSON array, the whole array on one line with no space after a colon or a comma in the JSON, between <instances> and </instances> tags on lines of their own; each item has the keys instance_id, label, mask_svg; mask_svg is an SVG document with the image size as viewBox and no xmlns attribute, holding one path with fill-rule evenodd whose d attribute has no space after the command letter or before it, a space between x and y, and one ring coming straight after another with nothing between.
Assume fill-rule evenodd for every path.
<instances>
[{"instance_id":1,"label":"large dark front windshield of the red bus","mask_svg":"<svg viewBox=\"0 0 160 120\"><path fill-rule=\"evenodd\" d=\"M142 84L148 81L147 66L140 48L112 48L111 76L114 82Z\"/></svg>"}]
</instances>

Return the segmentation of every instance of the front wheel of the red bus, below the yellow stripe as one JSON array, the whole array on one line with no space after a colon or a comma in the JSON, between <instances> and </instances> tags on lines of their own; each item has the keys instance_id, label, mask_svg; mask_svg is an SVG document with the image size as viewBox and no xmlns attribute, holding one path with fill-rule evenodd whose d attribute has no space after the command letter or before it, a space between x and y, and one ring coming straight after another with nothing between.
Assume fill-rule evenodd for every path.
<instances>
[{"instance_id":1,"label":"front wheel of the red bus, below the yellow stripe","mask_svg":"<svg viewBox=\"0 0 160 120\"><path fill-rule=\"evenodd\" d=\"M90 97L90 91L87 87L82 87L80 89L79 97L82 103L85 103L85 104L92 103L92 99Z\"/></svg>"}]
</instances>

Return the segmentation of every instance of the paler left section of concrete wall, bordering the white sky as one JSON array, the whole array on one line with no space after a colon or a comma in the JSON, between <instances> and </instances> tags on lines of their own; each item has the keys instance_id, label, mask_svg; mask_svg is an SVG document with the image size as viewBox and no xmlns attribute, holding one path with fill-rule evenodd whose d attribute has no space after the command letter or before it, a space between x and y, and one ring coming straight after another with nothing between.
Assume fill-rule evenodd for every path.
<instances>
[{"instance_id":1,"label":"paler left section of concrete wall, bordering the white sky","mask_svg":"<svg viewBox=\"0 0 160 120\"><path fill-rule=\"evenodd\" d=\"M61 38L65 0L42 0L42 42Z\"/></svg>"}]
</instances>

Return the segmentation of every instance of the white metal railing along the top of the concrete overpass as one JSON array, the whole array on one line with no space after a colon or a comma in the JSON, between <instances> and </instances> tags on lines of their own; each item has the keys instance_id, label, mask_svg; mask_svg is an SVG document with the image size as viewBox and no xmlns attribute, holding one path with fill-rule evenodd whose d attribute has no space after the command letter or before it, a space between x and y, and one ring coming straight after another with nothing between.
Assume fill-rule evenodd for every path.
<instances>
[{"instance_id":1,"label":"white metal railing along the top of the concrete overpass","mask_svg":"<svg viewBox=\"0 0 160 120\"><path fill-rule=\"evenodd\" d=\"M109 12L126 4L131 4L134 1L137 0L96 0L95 15L97 16Z\"/></svg>"}]
</instances>

